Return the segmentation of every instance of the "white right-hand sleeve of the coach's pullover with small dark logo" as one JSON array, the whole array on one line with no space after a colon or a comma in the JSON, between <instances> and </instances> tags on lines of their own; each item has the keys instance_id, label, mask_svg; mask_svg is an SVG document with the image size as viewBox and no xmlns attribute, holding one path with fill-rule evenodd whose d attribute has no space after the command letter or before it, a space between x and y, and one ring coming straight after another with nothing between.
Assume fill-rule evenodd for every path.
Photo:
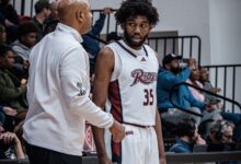
<instances>
[{"instance_id":1,"label":"white right-hand sleeve of the coach's pullover with small dark logo","mask_svg":"<svg viewBox=\"0 0 241 164\"><path fill-rule=\"evenodd\" d=\"M88 57L82 48L65 55L60 65L60 84L70 113L79 115L100 128L110 128L114 119L89 98Z\"/></svg>"}]
</instances>

